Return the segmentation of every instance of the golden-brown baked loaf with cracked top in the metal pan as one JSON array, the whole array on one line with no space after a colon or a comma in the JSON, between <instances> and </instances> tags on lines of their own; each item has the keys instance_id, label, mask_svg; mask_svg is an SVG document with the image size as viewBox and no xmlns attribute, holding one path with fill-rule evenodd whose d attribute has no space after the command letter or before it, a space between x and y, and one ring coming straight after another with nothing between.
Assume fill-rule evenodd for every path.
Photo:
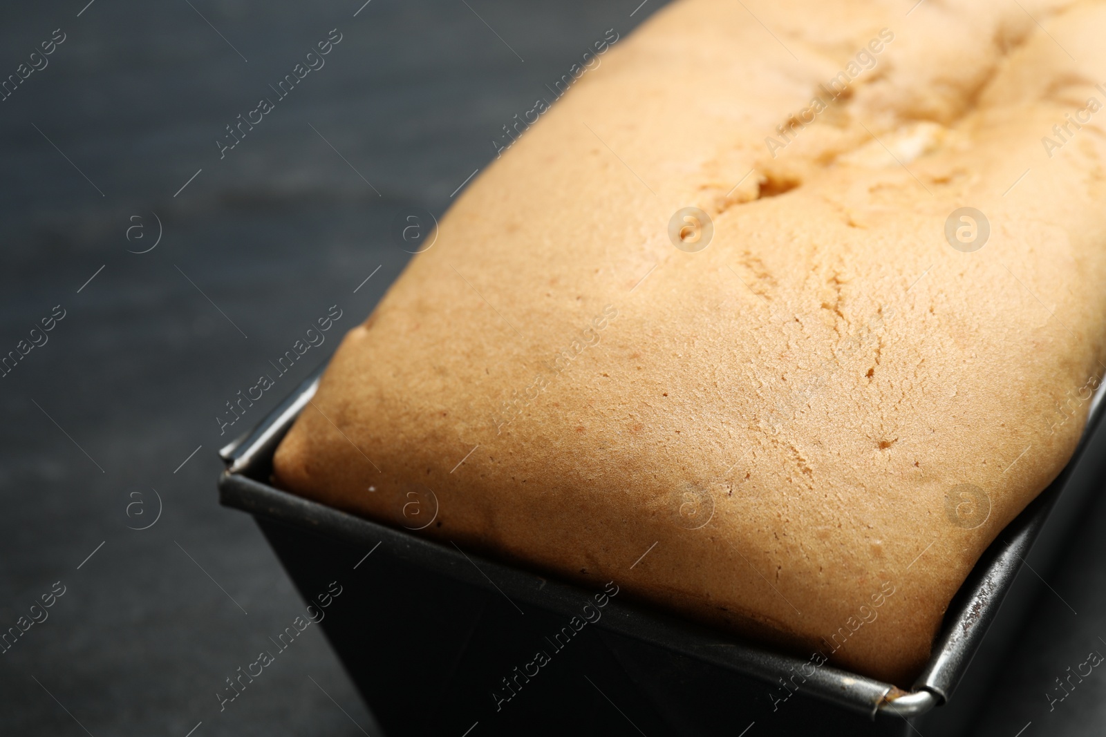
<instances>
[{"instance_id":1,"label":"golden-brown baked loaf with cracked top in the metal pan","mask_svg":"<svg viewBox=\"0 0 1106 737\"><path fill-rule=\"evenodd\" d=\"M1106 372L1106 7L905 11L619 39L347 334L278 485L909 686Z\"/></svg>"}]
</instances>

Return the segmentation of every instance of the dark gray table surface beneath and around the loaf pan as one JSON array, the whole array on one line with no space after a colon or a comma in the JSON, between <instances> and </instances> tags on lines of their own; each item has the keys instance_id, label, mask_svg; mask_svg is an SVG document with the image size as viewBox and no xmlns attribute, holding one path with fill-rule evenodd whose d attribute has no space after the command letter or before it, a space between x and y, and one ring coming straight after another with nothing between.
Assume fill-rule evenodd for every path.
<instances>
[{"instance_id":1,"label":"dark gray table surface beneath and around the loaf pan","mask_svg":"<svg viewBox=\"0 0 1106 737\"><path fill-rule=\"evenodd\" d=\"M404 267L393 215L444 211L503 123L660 1L85 2L0 8L3 75L65 35L0 102L0 351L65 310L0 379L0 629L65 591L0 655L0 734L375 737L317 628L219 710L303 602L218 506L216 452ZM325 66L220 159L225 126L335 28ZM225 402L335 304L327 343L220 435ZM1044 694L1106 653L1104 528L1099 504L1040 571L1056 596L1042 587L978 734L1100 733L1098 670L1052 712Z\"/></svg>"}]
</instances>

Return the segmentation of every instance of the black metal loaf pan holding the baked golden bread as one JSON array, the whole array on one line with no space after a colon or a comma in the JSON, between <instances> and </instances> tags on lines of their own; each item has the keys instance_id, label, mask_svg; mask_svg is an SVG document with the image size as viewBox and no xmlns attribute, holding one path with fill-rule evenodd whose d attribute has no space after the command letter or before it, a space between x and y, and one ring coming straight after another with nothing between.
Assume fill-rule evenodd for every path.
<instances>
[{"instance_id":1,"label":"black metal loaf pan holding the baked golden bread","mask_svg":"<svg viewBox=\"0 0 1106 737\"><path fill-rule=\"evenodd\" d=\"M322 627L389 737L964 734L1036 593L1018 573L1026 558L1047 567L1098 488L1106 440L1094 411L1068 466L979 560L904 693L272 487L273 452L321 373L221 451L220 502L253 515L305 599L343 587ZM781 685L811 671L797 691Z\"/></svg>"}]
</instances>

